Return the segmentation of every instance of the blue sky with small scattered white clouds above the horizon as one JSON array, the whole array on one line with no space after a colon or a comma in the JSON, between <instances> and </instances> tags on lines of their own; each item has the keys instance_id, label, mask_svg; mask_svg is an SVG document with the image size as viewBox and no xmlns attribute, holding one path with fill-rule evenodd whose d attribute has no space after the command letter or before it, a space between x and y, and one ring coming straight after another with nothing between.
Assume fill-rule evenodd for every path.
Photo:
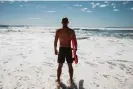
<instances>
[{"instance_id":1,"label":"blue sky with small scattered white clouds above the horizon","mask_svg":"<svg viewBox=\"0 0 133 89\"><path fill-rule=\"evenodd\" d=\"M133 1L0 1L0 24L133 27Z\"/></svg>"}]
</instances>

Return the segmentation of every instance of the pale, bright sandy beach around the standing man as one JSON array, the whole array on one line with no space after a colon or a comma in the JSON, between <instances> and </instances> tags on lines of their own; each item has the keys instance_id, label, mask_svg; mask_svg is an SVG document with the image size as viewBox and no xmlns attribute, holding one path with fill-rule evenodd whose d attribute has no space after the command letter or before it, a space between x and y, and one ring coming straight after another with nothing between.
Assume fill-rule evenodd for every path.
<instances>
[{"instance_id":1,"label":"pale, bright sandy beach around the standing man","mask_svg":"<svg viewBox=\"0 0 133 89\"><path fill-rule=\"evenodd\" d=\"M55 89L58 64L53 49L54 32L0 33L0 89ZM73 64L73 89L132 89L133 39L80 36L79 63ZM66 63L61 80L62 89L67 89Z\"/></svg>"}]
</instances>

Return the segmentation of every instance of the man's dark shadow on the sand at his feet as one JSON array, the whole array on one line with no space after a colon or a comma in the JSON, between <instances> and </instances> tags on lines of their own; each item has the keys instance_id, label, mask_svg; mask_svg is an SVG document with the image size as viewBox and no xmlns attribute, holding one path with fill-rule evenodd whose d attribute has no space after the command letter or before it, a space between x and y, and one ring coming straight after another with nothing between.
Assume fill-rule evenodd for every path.
<instances>
[{"instance_id":1,"label":"man's dark shadow on the sand at his feet","mask_svg":"<svg viewBox=\"0 0 133 89\"><path fill-rule=\"evenodd\" d=\"M61 84L60 84L60 87L61 87L62 89L85 89L85 88L83 87L83 84L84 84L84 80L80 80L80 81L79 81L79 86L77 86L77 85L74 83L73 86L72 86L72 88L68 88L64 83L61 83Z\"/></svg>"}]
</instances>

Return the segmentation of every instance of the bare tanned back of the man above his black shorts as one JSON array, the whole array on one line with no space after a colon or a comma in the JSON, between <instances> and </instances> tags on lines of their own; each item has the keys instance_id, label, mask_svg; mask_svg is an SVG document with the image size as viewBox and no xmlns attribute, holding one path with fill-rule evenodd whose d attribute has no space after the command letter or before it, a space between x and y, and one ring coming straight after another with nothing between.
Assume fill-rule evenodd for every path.
<instances>
[{"instance_id":1,"label":"bare tanned back of the man above his black shorts","mask_svg":"<svg viewBox=\"0 0 133 89\"><path fill-rule=\"evenodd\" d=\"M74 31L70 28L61 28L57 30L60 41L60 47L71 47L71 40L74 37Z\"/></svg>"}]
</instances>

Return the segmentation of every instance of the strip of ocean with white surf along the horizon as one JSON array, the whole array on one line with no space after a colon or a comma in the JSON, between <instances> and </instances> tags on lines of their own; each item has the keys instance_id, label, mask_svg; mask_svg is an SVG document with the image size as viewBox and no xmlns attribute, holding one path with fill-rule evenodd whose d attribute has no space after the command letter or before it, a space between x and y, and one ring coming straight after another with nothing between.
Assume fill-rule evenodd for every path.
<instances>
[{"instance_id":1,"label":"strip of ocean with white surf along the horizon","mask_svg":"<svg viewBox=\"0 0 133 89\"><path fill-rule=\"evenodd\" d=\"M1 26L0 32L24 32L24 31L40 31L54 33L58 27L30 27L30 26ZM133 28L85 28L72 27L77 34L78 39L87 39L90 36L100 37L117 37L133 39Z\"/></svg>"}]
</instances>

